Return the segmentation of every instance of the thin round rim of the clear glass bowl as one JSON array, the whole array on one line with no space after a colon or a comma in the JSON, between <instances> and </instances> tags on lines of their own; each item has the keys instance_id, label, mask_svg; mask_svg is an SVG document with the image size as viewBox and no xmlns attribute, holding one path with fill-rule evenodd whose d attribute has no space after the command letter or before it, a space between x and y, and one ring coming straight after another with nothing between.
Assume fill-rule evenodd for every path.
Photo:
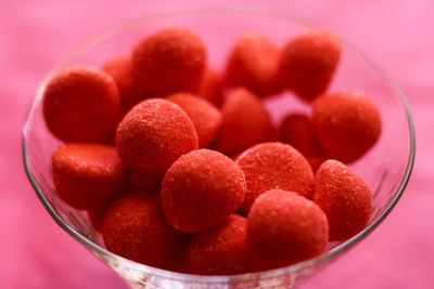
<instances>
[{"instance_id":1,"label":"thin round rim of the clear glass bowl","mask_svg":"<svg viewBox=\"0 0 434 289\"><path fill-rule=\"evenodd\" d=\"M152 13L152 14L151 14ZM154 14L155 13L155 14ZM215 283L234 283L234 281L243 281L246 279L253 279L253 278L260 278L260 279L268 279L268 278L273 278L277 276L280 276L282 274L288 274L290 272L295 272L298 270L303 270L306 267L309 267L311 265L315 265L317 263L321 263L321 261L324 261L327 259L331 259L333 257L336 257L340 252L349 250L353 248L355 245L357 245L361 239L367 237L374 228L376 228L383 220L390 214L390 212L395 208L397 205L398 200L404 194L404 191L409 182L409 179L411 176L411 172L413 169L414 165L414 156L416 156L416 136L414 136L414 124L410 111L410 107L408 105L408 101L403 92L403 90L396 84L396 82L385 73L385 70L380 67L375 62L373 62L369 56L367 56L365 53L359 51L355 45L348 43L345 39L342 39L342 42L345 47L350 49L353 52L355 52L362 61L365 61L384 81L385 83L390 87L390 89L394 92L395 97L397 101L400 103L400 105L404 107L404 110L406 113L407 117L407 126L408 126L408 133L409 133L409 155L408 155L408 160L405 169L405 173L403 175L403 179L400 180L399 186L396 189L396 193L392 200L388 202L387 207L383 210L383 212L376 216L375 220L372 221L371 224L369 224L367 227L365 227L360 233L357 235L353 236L350 239L342 242L341 245L332 248L331 250L322 253L319 257L316 257L310 260L306 260L290 266L285 267L279 267L279 268L273 268L273 270L268 270L268 271L261 271L261 272L254 272L254 273L245 273L245 274L238 274L238 275L194 275L194 274L187 274L187 273L178 273L178 272L171 272L171 271L165 271L162 268L149 266L145 264L137 263L135 261L128 260L126 258L123 258L120 255L114 254L106 250L103 247L100 247L99 245L94 244L93 241L87 239L85 236L82 236L80 233L72 228L68 224L66 224L55 212L53 206L50 203L50 201L47 199L44 196L41 187L39 186L38 182L36 181L35 175L31 172L31 169L29 167L29 159L28 159L28 153L27 153L27 135L28 131L31 128L29 126L31 123L31 120L35 118L35 108L36 106L40 103L42 98L42 93L43 89L50 79L50 77L59 71L63 66L67 65L71 61L79 56L81 53L86 52L87 50L91 49L93 45L97 43L107 39L111 36L114 36L122 30L132 28L139 24L142 24L144 21L151 21L151 19L156 19L156 18L165 18L165 17L170 17L170 16L186 16L186 15L193 15L193 14L199 14L199 13L217 13L217 14L240 14L240 13L245 13L248 15L254 15L258 17L267 17L267 18L278 18L281 21L290 21L298 25L303 25L305 27L312 27L314 25L306 19L303 19L302 17L295 17L293 15L289 15L286 13L282 13L279 11L264 11L264 10L255 10L255 9L227 9L227 8L200 8L200 9L194 9L194 8L188 8L184 10L168 10L166 9L165 11L150 11L150 15L144 15L140 16L137 18L133 18L131 21L123 22L118 25L115 25L113 27L108 27L108 29L103 30L103 32L97 34L97 36L93 36L88 39L88 41L85 41L84 44L79 45L76 50L74 50L68 56L64 58L60 64L54 66L54 68L51 69L47 74L47 76L43 78L41 83L39 84L37 91L36 91L36 96L34 97L31 105L29 107L29 110L27 113L27 117L25 120L25 124L22 131L22 153L23 153L23 163L24 163L24 169L27 175L28 181L31 184L31 187L34 188L36 195L38 196L39 200L42 202L44 209L47 212L50 214L50 216L54 220L54 222L62 227L67 234L69 234L73 238L75 238L77 241L79 241L82 246L85 246L88 250L92 250L99 254L102 255L107 255L113 259L122 259L123 262L129 262L131 266L135 266L138 268L138 271L143 271L146 273L151 273L154 276L157 277L164 277L164 278L170 278L174 281L196 281L196 283L202 283L202 284L215 284Z\"/></svg>"}]
</instances>

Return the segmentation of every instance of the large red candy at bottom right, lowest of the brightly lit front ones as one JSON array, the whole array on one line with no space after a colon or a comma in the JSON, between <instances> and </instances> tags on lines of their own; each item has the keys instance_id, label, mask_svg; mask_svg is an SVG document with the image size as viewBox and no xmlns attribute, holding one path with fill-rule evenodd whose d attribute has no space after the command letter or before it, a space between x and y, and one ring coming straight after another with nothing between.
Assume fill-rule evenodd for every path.
<instances>
[{"instance_id":1,"label":"large red candy at bottom right, lowest of the brightly lit front ones","mask_svg":"<svg viewBox=\"0 0 434 289\"><path fill-rule=\"evenodd\" d=\"M293 192L265 192L247 216L247 244L256 270L286 266L320 255L328 239L324 213L311 200Z\"/></svg>"}]
</instances>

